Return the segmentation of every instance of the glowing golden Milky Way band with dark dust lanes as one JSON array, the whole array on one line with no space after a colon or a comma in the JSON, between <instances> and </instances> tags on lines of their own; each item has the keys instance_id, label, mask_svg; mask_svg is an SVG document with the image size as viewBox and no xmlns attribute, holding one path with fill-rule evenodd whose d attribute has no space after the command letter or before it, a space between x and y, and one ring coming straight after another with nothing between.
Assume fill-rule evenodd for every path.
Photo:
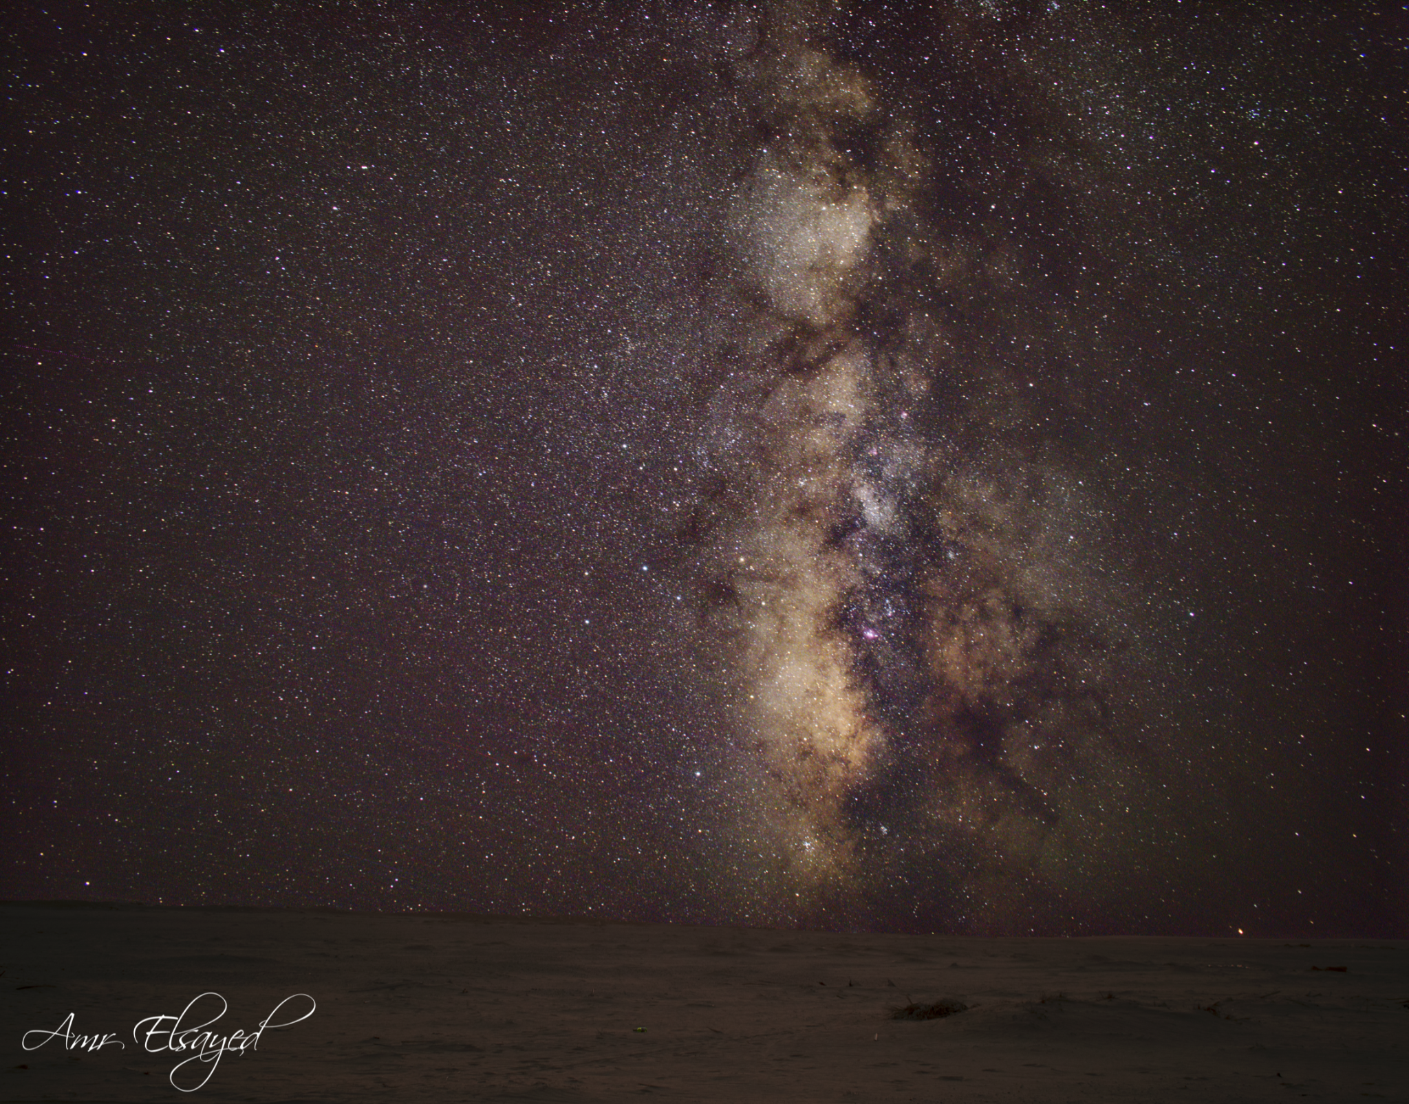
<instances>
[{"instance_id":1,"label":"glowing golden Milky Way band with dark dust lanes","mask_svg":"<svg viewBox=\"0 0 1409 1104\"><path fill-rule=\"evenodd\" d=\"M926 911L1003 922L1065 889L1071 807L1130 769L1112 738L1129 641L1086 548L1102 506L1024 393L1050 321L1033 301L1079 290L1002 230L1050 220L1069 183L1019 149L1016 179L936 196L951 151L921 148L827 30L788 6L728 28L761 135L730 220L727 294L748 307L720 346L717 493L688 534L799 914L913 894L921 863ZM1100 766L1078 780L1078 759Z\"/></svg>"}]
</instances>

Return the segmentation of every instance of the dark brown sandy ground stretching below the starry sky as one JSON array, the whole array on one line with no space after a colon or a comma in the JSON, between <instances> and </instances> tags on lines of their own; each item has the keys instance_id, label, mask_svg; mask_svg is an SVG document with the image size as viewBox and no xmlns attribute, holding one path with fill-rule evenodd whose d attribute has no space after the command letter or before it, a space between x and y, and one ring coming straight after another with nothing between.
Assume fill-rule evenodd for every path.
<instances>
[{"instance_id":1,"label":"dark brown sandy ground stretching below the starry sky","mask_svg":"<svg viewBox=\"0 0 1409 1104\"><path fill-rule=\"evenodd\" d=\"M0 905L0 935L3 1100L1409 1101L1406 941L52 904ZM221 1036L317 1008L182 1093L193 1050L132 1029L201 993ZM968 1007L890 1018L937 1001Z\"/></svg>"}]
</instances>

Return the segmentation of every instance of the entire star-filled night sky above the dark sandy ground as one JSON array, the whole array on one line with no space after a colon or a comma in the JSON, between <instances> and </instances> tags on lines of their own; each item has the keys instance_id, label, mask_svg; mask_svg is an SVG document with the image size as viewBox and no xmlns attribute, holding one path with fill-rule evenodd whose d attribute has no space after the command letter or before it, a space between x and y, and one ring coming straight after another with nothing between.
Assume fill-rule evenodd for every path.
<instances>
[{"instance_id":1,"label":"entire star-filled night sky above the dark sandy ground","mask_svg":"<svg viewBox=\"0 0 1409 1104\"><path fill-rule=\"evenodd\" d=\"M0 897L1409 935L1398 6L20 11Z\"/></svg>"}]
</instances>

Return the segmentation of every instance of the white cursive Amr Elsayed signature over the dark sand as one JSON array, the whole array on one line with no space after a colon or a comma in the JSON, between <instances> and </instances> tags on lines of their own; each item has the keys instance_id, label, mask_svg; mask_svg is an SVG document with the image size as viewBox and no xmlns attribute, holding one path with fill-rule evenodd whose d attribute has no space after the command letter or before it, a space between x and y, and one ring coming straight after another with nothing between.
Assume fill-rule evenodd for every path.
<instances>
[{"instance_id":1,"label":"white cursive Amr Elsayed signature over the dark sand","mask_svg":"<svg viewBox=\"0 0 1409 1104\"><path fill-rule=\"evenodd\" d=\"M196 1022L196 1020L204 1012L193 1011L197 1004L206 1001L207 997L214 997L220 1001L220 1011L216 1012L209 1020ZM279 1015L280 1010L289 1003L296 1000L309 1001L309 1011L303 1015L294 1017L293 1020L285 1020L276 1022L275 1017ZM206 1003L210 1008L210 1003ZM259 1027L255 1031L235 1029L228 1035L220 1035L211 1031L211 1027L221 1018L230 1005L225 998L218 993L201 993L190 1004L187 1004L179 1015L149 1015L144 1020L138 1020L137 1025L132 1028L132 1042L141 1043L142 1049L148 1053L161 1053L162 1050L170 1050L172 1053L182 1055L190 1053L189 1058L178 1062L169 1074L173 1089L179 1089L182 1093L194 1093L216 1072L216 1066L220 1065L220 1059L227 1053L244 1055L247 1050L255 1050L259 1048L259 1036L265 1034L269 1028L287 1028L307 1020L318 1008L318 1003L313 1000L307 993L294 993L292 997L285 997L279 1001L273 1011L269 1012L263 1020L259 1021ZM293 1014L294 1010L287 1012ZM24 1038L20 1041L25 1050L38 1050L48 1042L55 1039L63 1039L63 1049L66 1050L101 1050L104 1046L117 1046L120 1049L127 1049L127 1043L117 1038L116 1032L107 1032L101 1035L82 1035L75 1029L75 1014L69 1012L68 1017L59 1024L54 1031L42 1031L35 1028L34 1031L24 1032ZM30 1036L39 1036L38 1042L31 1043ZM194 1084L183 1084L183 1081L190 1081L192 1077L197 1076L200 1067L193 1067L187 1073L180 1074L178 1080L178 1073L189 1066L192 1062L204 1062L207 1065L206 1076L201 1077Z\"/></svg>"}]
</instances>

